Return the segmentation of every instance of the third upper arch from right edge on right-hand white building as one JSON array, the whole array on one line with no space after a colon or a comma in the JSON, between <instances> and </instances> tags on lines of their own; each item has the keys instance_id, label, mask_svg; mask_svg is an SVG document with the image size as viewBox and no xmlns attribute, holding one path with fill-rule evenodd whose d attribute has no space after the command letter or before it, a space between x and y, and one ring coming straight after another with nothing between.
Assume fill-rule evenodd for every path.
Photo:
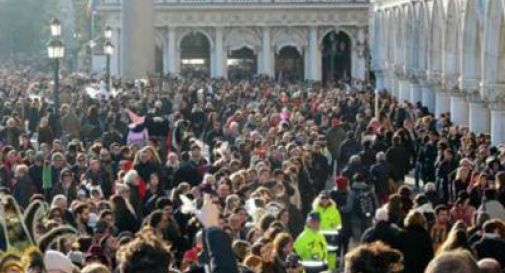
<instances>
[{"instance_id":1,"label":"third upper arch from right edge on right-hand white building","mask_svg":"<svg viewBox=\"0 0 505 273\"><path fill-rule=\"evenodd\" d=\"M455 81L460 67L458 58L460 53L460 22L455 0L449 0L445 21L443 72L447 80Z\"/></svg>"}]
</instances>

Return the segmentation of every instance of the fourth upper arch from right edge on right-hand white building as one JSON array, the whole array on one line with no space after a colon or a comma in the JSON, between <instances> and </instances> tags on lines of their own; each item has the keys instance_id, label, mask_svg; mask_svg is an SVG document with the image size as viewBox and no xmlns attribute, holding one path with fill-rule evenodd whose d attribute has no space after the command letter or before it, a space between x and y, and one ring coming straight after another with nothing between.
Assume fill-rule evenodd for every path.
<instances>
[{"instance_id":1,"label":"fourth upper arch from right edge on right-hand white building","mask_svg":"<svg viewBox=\"0 0 505 273\"><path fill-rule=\"evenodd\" d=\"M438 0L433 2L431 13L431 37L430 37L430 59L429 69L431 73L442 73L442 48L443 48L443 11Z\"/></svg>"}]
</instances>

